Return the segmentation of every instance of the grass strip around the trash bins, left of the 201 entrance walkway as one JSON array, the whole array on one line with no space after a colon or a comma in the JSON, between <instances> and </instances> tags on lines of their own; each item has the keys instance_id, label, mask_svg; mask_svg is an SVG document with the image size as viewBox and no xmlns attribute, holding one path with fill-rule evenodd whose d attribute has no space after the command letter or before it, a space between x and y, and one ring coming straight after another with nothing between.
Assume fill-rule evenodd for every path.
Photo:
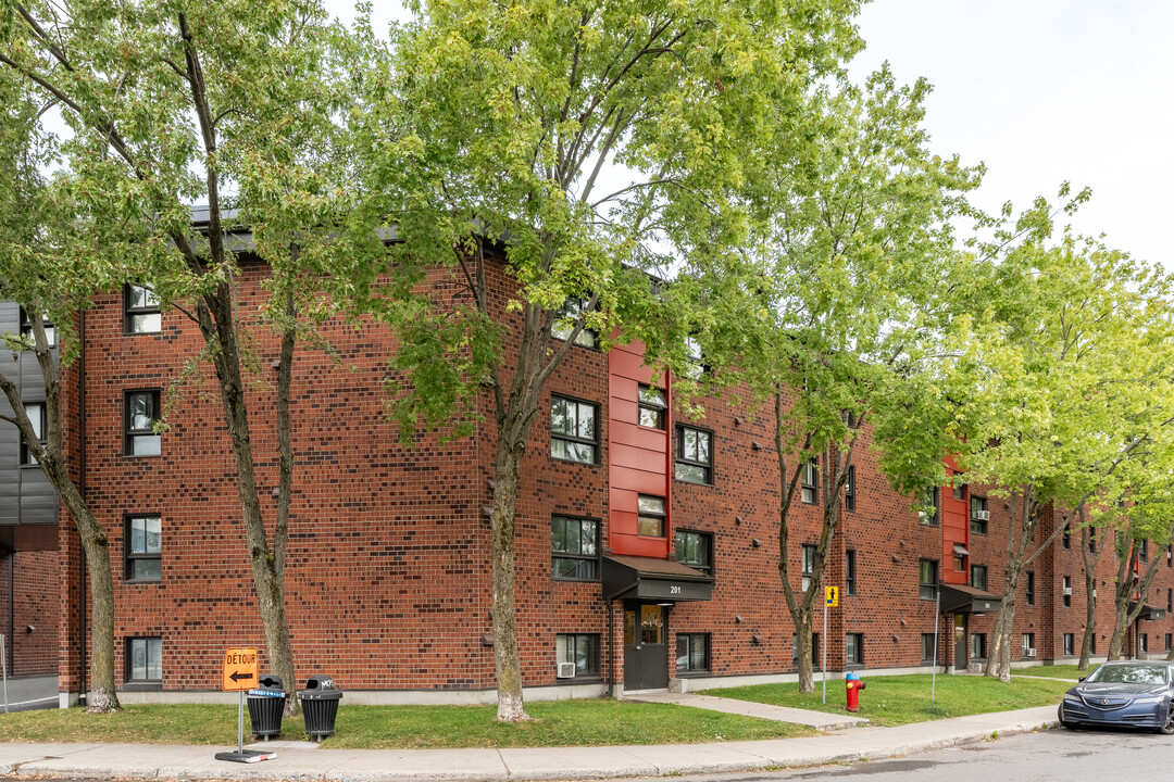
<instances>
[{"instance_id":1,"label":"grass strip around the trash bins, left of the 201 entrance walkway","mask_svg":"<svg viewBox=\"0 0 1174 782\"><path fill-rule=\"evenodd\" d=\"M810 736L803 726L667 703L573 700L527 703L533 721L501 725L494 706L348 706L324 747L394 749L454 747L592 747L673 744ZM245 732L249 730L245 714ZM119 714L80 708L0 714L2 741L94 741L236 744L236 706L128 706ZM286 719L282 739L304 739L302 719ZM251 737L245 735L245 742Z\"/></svg>"}]
</instances>

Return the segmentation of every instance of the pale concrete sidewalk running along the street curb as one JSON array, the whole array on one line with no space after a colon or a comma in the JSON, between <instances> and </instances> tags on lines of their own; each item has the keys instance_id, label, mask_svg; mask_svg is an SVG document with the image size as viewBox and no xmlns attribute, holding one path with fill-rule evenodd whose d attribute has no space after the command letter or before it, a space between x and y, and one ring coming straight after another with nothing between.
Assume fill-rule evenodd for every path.
<instances>
[{"instance_id":1,"label":"pale concrete sidewalk running along the street curb","mask_svg":"<svg viewBox=\"0 0 1174 782\"><path fill-rule=\"evenodd\" d=\"M810 713L809 713L810 714ZM826 718L825 714L819 715ZM0 774L80 778L468 781L572 780L717 774L877 760L1055 726L1055 707L978 714L897 728L857 727L809 739L647 747L539 749L321 749L299 741L256 747L277 752L261 763L228 763L229 747L158 744L5 744Z\"/></svg>"}]
</instances>

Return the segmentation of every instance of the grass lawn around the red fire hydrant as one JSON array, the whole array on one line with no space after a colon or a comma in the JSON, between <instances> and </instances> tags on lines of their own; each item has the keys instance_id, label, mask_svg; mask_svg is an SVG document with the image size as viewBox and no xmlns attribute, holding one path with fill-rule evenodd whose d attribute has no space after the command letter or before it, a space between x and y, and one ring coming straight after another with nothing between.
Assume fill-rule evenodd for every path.
<instances>
[{"instance_id":1,"label":"grass lawn around the red fire hydrant","mask_svg":"<svg viewBox=\"0 0 1174 782\"><path fill-rule=\"evenodd\" d=\"M1059 705L1064 691L1072 686L1047 679L1012 679L1005 685L986 676L939 675L936 708L930 710L931 680L927 675L869 678L865 674L862 678L866 687L861 693L861 716L885 726ZM821 702L821 687L819 674L816 674L815 693L810 695L801 695L795 684L711 689L708 694L843 714L844 680L828 679L826 705Z\"/></svg>"}]
</instances>

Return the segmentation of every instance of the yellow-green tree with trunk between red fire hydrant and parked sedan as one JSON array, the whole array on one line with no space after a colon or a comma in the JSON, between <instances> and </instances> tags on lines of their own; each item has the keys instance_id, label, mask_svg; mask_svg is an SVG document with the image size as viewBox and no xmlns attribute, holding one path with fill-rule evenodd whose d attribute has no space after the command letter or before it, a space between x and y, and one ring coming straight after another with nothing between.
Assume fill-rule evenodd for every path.
<instances>
[{"instance_id":1,"label":"yellow-green tree with trunk between red fire hydrant and parked sedan","mask_svg":"<svg viewBox=\"0 0 1174 782\"><path fill-rule=\"evenodd\" d=\"M1087 503L1115 496L1121 465L1169 417L1163 276L1091 239L1050 244L1054 215L1040 199L986 249L985 305L956 319L947 368L965 400L953 431L966 481L992 485L1010 510L986 668L1004 681L1024 569ZM1037 540L1053 508L1062 518Z\"/></svg>"}]
</instances>

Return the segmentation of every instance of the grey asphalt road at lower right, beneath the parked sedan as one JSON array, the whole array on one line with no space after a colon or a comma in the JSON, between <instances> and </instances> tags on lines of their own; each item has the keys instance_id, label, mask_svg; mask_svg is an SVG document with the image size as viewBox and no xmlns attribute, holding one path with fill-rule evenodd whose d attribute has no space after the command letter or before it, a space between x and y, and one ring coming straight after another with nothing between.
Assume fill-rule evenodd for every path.
<instances>
[{"instance_id":1,"label":"grey asphalt road at lower right, beneath the parked sedan","mask_svg":"<svg viewBox=\"0 0 1174 782\"><path fill-rule=\"evenodd\" d=\"M674 777L673 782L1169 782L1174 737L1047 730L923 755L796 771ZM646 781L647 782L647 781Z\"/></svg>"}]
</instances>

